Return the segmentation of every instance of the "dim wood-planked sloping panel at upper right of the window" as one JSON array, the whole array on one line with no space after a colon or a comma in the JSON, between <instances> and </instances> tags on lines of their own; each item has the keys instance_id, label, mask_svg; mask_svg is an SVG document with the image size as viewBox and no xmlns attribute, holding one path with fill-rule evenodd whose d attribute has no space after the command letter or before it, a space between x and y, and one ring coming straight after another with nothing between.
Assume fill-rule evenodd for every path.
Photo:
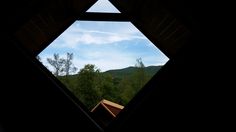
<instances>
[{"instance_id":1,"label":"dim wood-planked sloping panel at upper right of the window","mask_svg":"<svg viewBox=\"0 0 236 132\"><path fill-rule=\"evenodd\" d=\"M169 58L175 56L191 35L182 19L161 0L111 1Z\"/></svg>"}]
</instances>

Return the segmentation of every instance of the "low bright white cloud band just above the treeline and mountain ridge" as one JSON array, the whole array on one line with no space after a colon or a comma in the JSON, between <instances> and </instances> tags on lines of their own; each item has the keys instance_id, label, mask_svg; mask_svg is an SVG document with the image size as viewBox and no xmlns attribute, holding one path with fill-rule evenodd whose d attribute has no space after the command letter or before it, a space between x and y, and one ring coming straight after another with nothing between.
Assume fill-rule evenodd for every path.
<instances>
[{"instance_id":1,"label":"low bright white cloud band just above the treeline and mountain ridge","mask_svg":"<svg viewBox=\"0 0 236 132\"><path fill-rule=\"evenodd\" d=\"M86 64L95 64L97 68L99 68L102 72L111 70L111 69L121 69L126 68L128 66L134 66L136 63L137 57L130 54L123 54L122 52L111 50L107 52L97 51L97 52L89 52L83 53L83 56L86 56L85 59L74 56L73 64L79 69L83 68ZM41 56L43 64L50 70L53 71L53 67L50 66L46 60L46 58L52 58L52 55L43 55ZM64 57L65 55L60 55L60 57ZM145 66L150 65L163 65L169 59L167 57L157 57L157 56L144 56L142 57L143 63Z\"/></svg>"}]
</instances>

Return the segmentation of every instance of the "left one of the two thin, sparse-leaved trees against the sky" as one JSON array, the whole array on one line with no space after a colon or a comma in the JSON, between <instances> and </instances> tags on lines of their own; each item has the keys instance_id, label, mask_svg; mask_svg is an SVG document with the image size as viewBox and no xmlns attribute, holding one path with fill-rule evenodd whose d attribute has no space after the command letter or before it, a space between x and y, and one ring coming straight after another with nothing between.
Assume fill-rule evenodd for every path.
<instances>
[{"instance_id":1,"label":"left one of the two thin, sparse-leaved trees against the sky","mask_svg":"<svg viewBox=\"0 0 236 132\"><path fill-rule=\"evenodd\" d=\"M60 58L59 54L54 53L53 59L47 58L47 62L54 68L53 74L58 77L63 72L65 59Z\"/></svg>"}]
</instances>

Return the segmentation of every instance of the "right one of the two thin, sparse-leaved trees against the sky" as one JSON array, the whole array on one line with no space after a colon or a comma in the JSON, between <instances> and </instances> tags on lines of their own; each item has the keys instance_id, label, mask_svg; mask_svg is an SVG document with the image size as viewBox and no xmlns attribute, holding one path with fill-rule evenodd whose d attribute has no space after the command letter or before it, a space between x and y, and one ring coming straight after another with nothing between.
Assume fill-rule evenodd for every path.
<instances>
[{"instance_id":1,"label":"right one of the two thin, sparse-leaved trees against the sky","mask_svg":"<svg viewBox=\"0 0 236 132\"><path fill-rule=\"evenodd\" d=\"M70 73L76 72L77 68L72 63L73 60L73 53L67 53L66 59L64 59L64 67L63 71L65 75L68 76Z\"/></svg>"}]
</instances>

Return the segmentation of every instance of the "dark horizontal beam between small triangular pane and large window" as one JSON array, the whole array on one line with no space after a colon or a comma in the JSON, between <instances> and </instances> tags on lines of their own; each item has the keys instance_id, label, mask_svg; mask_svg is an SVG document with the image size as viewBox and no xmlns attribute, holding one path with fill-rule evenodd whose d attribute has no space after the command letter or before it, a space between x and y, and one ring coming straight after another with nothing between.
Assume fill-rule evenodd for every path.
<instances>
[{"instance_id":1,"label":"dark horizontal beam between small triangular pane and large window","mask_svg":"<svg viewBox=\"0 0 236 132\"><path fill-rule=\"evenodd\" d=\"M82 14L78 20L80 21L129 21L127 17L121 13L96 13L86 12Z\"/></svg>"}]
</instances>

